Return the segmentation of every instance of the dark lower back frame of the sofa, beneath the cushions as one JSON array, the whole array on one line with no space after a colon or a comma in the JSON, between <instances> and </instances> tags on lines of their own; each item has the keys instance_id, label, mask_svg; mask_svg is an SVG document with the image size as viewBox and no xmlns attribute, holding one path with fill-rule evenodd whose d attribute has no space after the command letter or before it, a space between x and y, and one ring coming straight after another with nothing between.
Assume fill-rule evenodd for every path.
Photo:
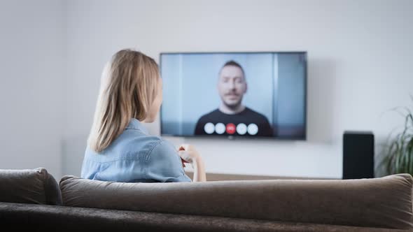
<instances>
[{"instance_id":1,"label":"dark lower back frame of the sofa, beneath the cushions","mask_svg":"<svg viewBox=\"0 0 413 232\"><path fill-rule=\"evenodd\" d=\"M272 222L257 219L8 202L0 203L0 222L2 228L12 226L13 231L28 231L29 227L29 231L41 232L408 232L408 230L362 226Z\"/></svg>"}]
</instances>

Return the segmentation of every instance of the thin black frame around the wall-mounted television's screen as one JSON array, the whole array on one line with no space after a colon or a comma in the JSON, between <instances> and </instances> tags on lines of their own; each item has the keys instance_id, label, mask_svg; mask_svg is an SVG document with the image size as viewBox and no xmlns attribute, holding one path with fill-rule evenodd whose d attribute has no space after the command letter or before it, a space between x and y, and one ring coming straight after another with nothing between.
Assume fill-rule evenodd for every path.
<instances>
[{"instance_id":1,"label":"thin black frame around the wall-mounted television's screen","mask_svg":"<svg viewBox=\"0 0 413 232\"><path fill-rule=\"evenodd\" d=\"M181 136L181 135L174 135L174 134L169 134L169 133L162 133L162 105L159 110L159 120L160 120L160 136L171 136L171 137L181 137L181 138L211 138L211 139L247 139L247 140L307 140L307 78L308 78L308 73L307 73L307 66L308 66L308 59L307 59L307 51L261 51L261 52L160 52L159 55L159 71L160 71L160 76L162 78L162 55L196 55L196 54L248 54L248 53L254 53L254 54L303 54L304 55L304 136L228 136L228 135L191 135L191 136ZM272 125L274 126L274 124Z\"/></svg>"}]
</instances>

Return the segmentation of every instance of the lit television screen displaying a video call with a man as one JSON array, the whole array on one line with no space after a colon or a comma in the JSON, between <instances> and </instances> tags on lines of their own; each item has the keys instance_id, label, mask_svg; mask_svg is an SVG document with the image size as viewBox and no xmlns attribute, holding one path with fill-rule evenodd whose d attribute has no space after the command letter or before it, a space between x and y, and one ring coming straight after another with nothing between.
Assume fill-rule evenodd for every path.
<instances>
[{"instance_id":1,"label":"lit television screen displaying a video call with a man","mask_svg":"<svg viewBox=\"0 0 413 232\"><path fill-rule=\"evenodd\" d=\"M307 52L161 53L161 133L306 138Z\"/></svg>"}]
</instances>

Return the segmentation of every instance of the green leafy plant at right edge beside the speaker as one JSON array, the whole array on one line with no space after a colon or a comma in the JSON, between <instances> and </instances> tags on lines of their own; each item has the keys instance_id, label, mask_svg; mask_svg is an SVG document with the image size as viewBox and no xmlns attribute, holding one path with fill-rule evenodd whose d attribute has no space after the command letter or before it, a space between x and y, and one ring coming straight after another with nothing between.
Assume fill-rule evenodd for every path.
<instances>
[{"instance_id":1,"label":"green leafy plant at right edge beside the speaker","mask_svg":"<svg viewBox=\"0 0 413 232\"><path fill-rule=\"evenodd\" d=\"M413 96L411 96L413 101ZM407 107L394 108L405 120L398 131L388 136L384 148L383 164L388 174L409 173L413 175L413 114ZM396 132L394 134L394 132Z\"/></svg>"}]
</instances>

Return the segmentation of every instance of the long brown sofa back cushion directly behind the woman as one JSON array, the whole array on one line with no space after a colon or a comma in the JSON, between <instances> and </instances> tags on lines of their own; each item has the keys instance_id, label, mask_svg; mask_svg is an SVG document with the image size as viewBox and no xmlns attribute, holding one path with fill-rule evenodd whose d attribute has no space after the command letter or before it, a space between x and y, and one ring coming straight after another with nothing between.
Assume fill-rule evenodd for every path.
<instances>
[{"instance_id":1,"label":"long brown sofa back cushion directly behind the woman","mask_svg":"<svg viewBox=\"0 0 413 232\"><path fill-rule=\"evenodd\" d=\"M360 180L121 183L65 176L63 204L280 222L412 228L412 176Z\"/></svg>"}]
</instances>

